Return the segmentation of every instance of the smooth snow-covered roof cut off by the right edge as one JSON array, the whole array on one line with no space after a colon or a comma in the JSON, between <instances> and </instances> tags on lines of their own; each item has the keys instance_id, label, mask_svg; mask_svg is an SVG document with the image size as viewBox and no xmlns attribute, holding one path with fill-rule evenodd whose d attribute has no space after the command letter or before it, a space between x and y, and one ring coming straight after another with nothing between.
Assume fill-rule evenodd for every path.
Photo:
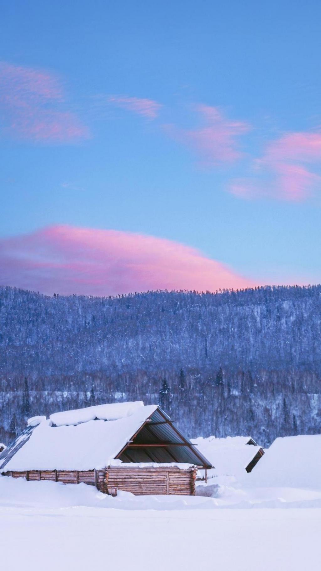
<instances>
[{"instance_id":1,"label":"smooth snow-covered roof cut off by the right edge","mask_svg":"<svg viewBox=\"0 0 321 571\"><path fill-rule=\"evenodd\" d=\"M250 482L279 488L321 488L321 435L277 438L253 468Z\"/></svg>"}]
</instances>

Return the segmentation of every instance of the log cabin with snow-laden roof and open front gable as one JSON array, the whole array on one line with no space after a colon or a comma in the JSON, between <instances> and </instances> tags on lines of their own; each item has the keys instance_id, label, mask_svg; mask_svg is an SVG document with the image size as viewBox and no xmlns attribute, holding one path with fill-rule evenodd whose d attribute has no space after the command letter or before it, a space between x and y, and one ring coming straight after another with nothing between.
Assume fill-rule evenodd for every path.
<instances>
[{"instance_id":1,"label":"log cabin with snow-laden roof and open front gable","mask_svg":"<svg viewBox=\"0 0 321 571\"><path fill-rule=\"evenodd\" d=\"M0 453L3 476L95 485L103 493L195 494L212 465L158 405L97 405L29 419Z\"/></svg>"}]
</instances>

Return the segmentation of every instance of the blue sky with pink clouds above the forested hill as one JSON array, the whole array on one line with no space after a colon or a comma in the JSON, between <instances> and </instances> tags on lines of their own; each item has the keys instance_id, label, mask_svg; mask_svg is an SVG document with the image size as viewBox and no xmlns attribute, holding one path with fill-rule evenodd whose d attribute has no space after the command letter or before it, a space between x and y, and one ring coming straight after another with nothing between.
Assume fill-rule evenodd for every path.
<instances>
[{"instance_id":1,"label":"blue sky with pink clouds above the forested hill","mask_svg":"<svg viewBox=\"0 0 321 571\"><path fill-rule=\"evenodd\" d=\"M316 1L5 3L0 283L319 283L320 37Z\"/></svg>"}]
</instances>

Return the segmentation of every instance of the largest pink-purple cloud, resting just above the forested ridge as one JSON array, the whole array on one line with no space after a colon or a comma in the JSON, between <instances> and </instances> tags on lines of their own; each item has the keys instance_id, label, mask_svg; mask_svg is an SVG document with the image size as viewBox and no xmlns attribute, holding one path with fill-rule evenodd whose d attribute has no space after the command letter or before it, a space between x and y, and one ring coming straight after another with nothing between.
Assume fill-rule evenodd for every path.
<instances>
[{"instance_id":1,"label":"largest pink-purple cloud, resting just above the forested ridge","mask_svg":"<svg viewBox=\"0 0 321 571\"><path fill-rule=\"evenodd\" d=\"M1 283L43 293L114 295L253 285L200 252L153 236L55 226L0 240Z\"/></svg>"}]
</instances>

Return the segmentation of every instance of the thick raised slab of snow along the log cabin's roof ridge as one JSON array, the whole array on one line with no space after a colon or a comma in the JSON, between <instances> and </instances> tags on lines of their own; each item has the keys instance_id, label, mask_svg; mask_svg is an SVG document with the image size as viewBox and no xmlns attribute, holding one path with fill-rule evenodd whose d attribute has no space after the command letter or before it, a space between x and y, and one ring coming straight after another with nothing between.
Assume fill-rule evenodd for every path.
<instances>
[{"instance_id":1,"label":"thick raised slab of snow along the log cabin's roof ridge","mask_svg":"<svg viewBox=\"0 0 321 571\"><path fill-rule=\"evenodd\" d=\"M58 427L87 423L95 419L119 420L133 415L142 407L144 407L144 403L141 400L135 403L99 404L95 407L79 408L74 411L55 412L50 415L50 420Z\"/></svg>"}]
</instances>

